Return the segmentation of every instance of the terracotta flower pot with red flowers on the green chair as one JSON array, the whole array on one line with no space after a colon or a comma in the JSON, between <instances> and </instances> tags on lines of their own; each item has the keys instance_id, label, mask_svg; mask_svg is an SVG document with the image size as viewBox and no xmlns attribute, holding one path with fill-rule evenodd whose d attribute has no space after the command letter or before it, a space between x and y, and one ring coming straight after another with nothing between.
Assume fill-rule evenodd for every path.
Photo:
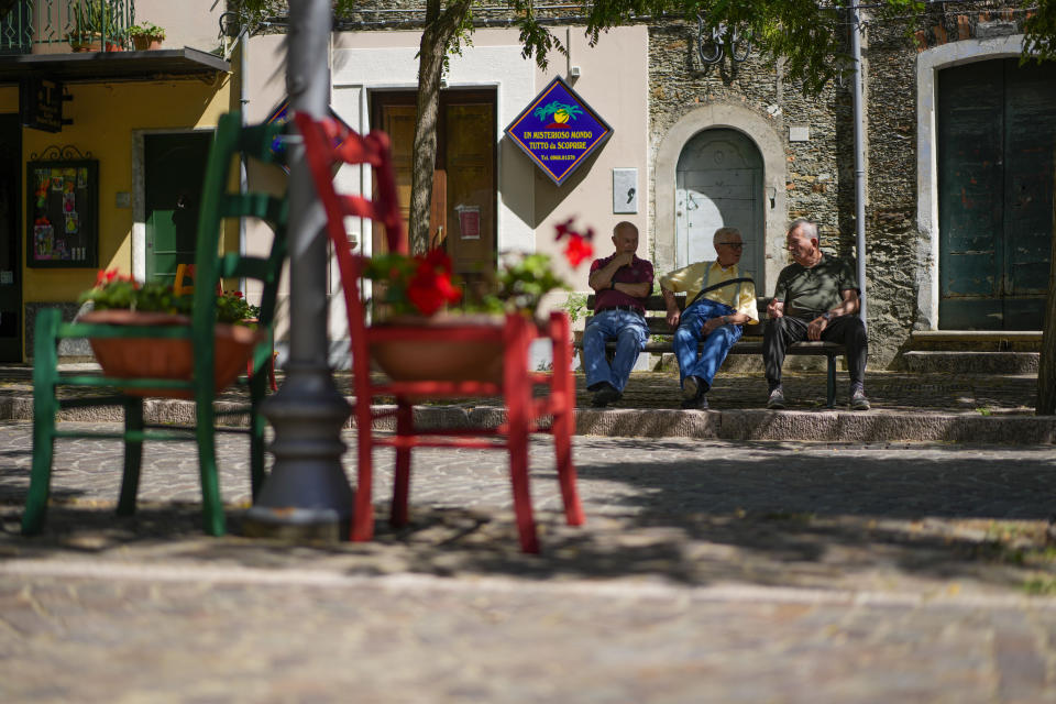
<instances>
[{"instance_id":1,"label":"terracotta flower pot with red flowers on the green chair","mask_svg":"<svg viewBox=\"0 0 1056 704\"><path fill-rule=\"evenodd\" d=\"M158 312L132 310L94 310L78 322L119 326L190 324L190 318ZM215 383L217 391L226 388L245 370L253 348L266 337L264 330L245 326L217 323L213 348ZM96 360L107 376L117 378L178 378L189 380L194 371L194 348L190 340L157 338L89 338ZM133 396L164 396L190 398L190 392L180 389L125 388Z\"/></svg>"}]
</instances>

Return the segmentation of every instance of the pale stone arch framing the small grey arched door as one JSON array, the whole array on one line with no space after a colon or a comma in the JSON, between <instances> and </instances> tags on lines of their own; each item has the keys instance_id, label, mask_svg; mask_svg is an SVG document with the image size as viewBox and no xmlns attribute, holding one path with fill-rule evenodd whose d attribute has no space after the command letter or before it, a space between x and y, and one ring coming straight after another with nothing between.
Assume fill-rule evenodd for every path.
<instances>
[{"instance_id":1,"label":"pale stone arch framing the small grey arched door","mask_svg":"<svg viewBox=\"0 0 1056 704\"><path fill-rule=\"evenodd\" d=\"M653 165L656 224L653 264L658 275L675 267L675 170L682 150L696 134L714 128L737 130L750 139L762 155L766 278L777 280L784 257L785 154L776 125L752 110L714 102L684 114L664 135ZM759 292L765 295L765 292Z\"/></svg>"}]
</instances>

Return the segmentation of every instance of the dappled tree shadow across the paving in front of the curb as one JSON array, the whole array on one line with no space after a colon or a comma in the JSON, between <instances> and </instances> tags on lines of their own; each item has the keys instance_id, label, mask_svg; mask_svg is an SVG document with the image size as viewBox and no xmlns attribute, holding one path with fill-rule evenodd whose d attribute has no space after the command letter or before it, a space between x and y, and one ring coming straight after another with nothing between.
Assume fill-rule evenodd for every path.
<instances>
[{"instance_id":1,"label":"dappled tree shadow across the paving in front of the curb","mask_svg":"<svg viewBox=\"0 0 1056 704\"><path fill-rule=\"evenodd\" d=\"M373 542L289 544L239 537L241 512L233 507L233 535L212 539L200 532L197 504L146 504L119 518L112 504L59 495L40 537L19 535L13 497L0 506L0 559L880 591L935 591L949 581L1007 591L1056 574L1047 449L996 461L996 451L972 457L964 447L927 446L893 462L846 446L799 455L787 444L774 462L773 443L738 446L747 454L730 459L723 457L728 446L716 442L686 461L664 460L662 442L613 442L631 458L648 448L651 459L581 465L587 525L569 527L557 513L537 512L541 556L518 551L509 510L413 506L410 526L395 531L378 503ZM671 447L684 454L686 446ZM554 481L548 470L535 479L535 486ZM603 484L608 493L595 496Z\"/></svg>"}]
</instances>

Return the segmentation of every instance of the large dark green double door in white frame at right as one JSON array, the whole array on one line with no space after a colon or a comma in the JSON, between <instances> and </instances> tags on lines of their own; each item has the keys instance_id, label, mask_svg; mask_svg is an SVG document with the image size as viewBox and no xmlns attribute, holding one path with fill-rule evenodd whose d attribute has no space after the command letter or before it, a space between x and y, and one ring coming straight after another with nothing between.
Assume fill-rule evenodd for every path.
<instances>
[{"instance_id":1,"label":"large dark green double door in white frame at right","mask_svg":"<svg viewBox=\"0 0 1056 704\"><path fill-rule=\"evenodd\" d=\"M938 75L942 329L1041 330L1053 237L1056 67Z\"/></svg>"}]
</instances>

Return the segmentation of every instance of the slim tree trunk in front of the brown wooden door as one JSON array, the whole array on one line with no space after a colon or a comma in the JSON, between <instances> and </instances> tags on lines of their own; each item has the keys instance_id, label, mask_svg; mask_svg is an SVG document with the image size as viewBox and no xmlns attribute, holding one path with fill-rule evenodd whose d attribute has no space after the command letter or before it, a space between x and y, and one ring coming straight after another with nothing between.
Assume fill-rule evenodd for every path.
<instances>
[{"instance_id":1,"label":"slim tree trunk in front of the brown wooden door","mask_svg":"<svg viewBox=\"0 0 1056 704\"><path fill-rule=\"evenodd\" d=\"M410 173L410 251L429 249L429 206L437 163L437 125L440 117L440 80L443 57L470 11L470 0L459 0L440 13L440 0L429 0L426 29L418 54L418 114L415 118L414 162Z\"/></svg>"}]
</instances>

